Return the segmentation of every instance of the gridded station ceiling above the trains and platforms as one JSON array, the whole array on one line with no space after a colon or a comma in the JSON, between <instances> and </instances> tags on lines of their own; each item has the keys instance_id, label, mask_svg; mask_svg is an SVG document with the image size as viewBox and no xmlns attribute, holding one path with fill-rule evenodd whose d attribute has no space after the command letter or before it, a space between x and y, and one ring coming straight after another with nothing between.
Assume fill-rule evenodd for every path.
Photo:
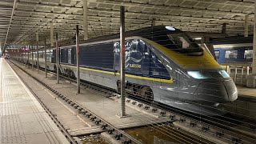
<instances>
[{"instance_id":1,"label":"gridded station ceiling above the trains and platforms","mask_svg":"<svg viewBox=\"0 0 256 144\"><path fill-rule=\"evenodd\" d=\"M126 7L126 30L156 25L180 30L221 34L244 33L249 15L249 34L253 33L254 0L88 0L89 38L118 33L119 9ZM1 0L0 42L22 45L35 39L50 38L50 23L60 40L72 38L75 26L82 29L82 0ZM83 31L81 30L81 33Z\"/></svg>"}]
</instances>

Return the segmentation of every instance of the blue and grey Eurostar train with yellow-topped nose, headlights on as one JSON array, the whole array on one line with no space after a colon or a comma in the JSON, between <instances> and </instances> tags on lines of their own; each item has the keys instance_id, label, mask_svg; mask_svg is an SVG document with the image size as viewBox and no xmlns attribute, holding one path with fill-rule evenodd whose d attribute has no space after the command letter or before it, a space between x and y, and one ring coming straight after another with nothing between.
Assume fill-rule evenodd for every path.
<instances>
[{"instance_id":1,"label":"blue and grey Eurostar train with yellow-topped nose, headlights on","mask_svg":"<svg viewBox=\"0 0 256 144\"><path fill-rule=\"evenodd\" d=\"M79 46L81 79L119 91L119 34L93 38ZM126 91L130 94L206 115L216 114L207 106L238 98L226 71L182 30L153 26L129 31L125 46ZM47 50L48 70L56 71L55 54L56 50ZM40 51L42 68L44 57ZM60 47L60 67L62 74L77 76L75 45Z\"/></svg>"}]
</instances>

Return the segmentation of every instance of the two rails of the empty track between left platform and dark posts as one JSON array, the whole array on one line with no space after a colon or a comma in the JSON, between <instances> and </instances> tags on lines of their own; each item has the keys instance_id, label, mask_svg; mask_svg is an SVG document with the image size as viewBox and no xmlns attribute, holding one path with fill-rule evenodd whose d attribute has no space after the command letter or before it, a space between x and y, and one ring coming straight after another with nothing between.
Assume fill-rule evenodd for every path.
<instances>
[{"instance_id":1,"label":"two rails of the empty track between left platform and dark posts","mask_svg":"<svg viewBox=\"0 0 256 144\"><path fill-rule=\"evenodd\" d=\"M103 118L98 117L97 114L94 114L92 111L86 109L86 107L80 105L78 102L75 102L72 98L69 98L65 94L62 94L58 90L54 90L51 86L47 85L45 82L42 82L40 79L34 77L30 73L28 73L26 70L23 70L20 66L12 62L14 66L17 66L20 70L22 70L24 73L29 75L31 78L34 78L37 82L42 84L42 86L45 86L48 90L52 91L54 94L58 95L59 98L62 98L65 102L67 102L70 106L73 106L75 109L78 110L79 114L83 114L86 116L86 118L89 118L90 121L95 122L98 126L101 126L102 130L106 130L108 134L110 134L112 137L114 137L116 140L118 140L120 143L124 144L130 144L130 143L137 143L140 144L137 139L132 138L129 134L126 134L124 131L119 130L117 127L111 125L109 122L106 122ZM19 76L19 78L21 78ZM22 79L22 78L21 78ZM22 80L22 82L24 82ZM25 83L25 82L24 82ZM27 85L26 85L27 86ZM30 90L33 94L34 92ZM34 94L35 95L35 94ZM54 122L57 124L57 126L60 128L63 134L65 134L66 138L70 141L70 143L78 143L74 138L67 132L67 130L62 126L61 122L58 121L57 118L54 117L54 114L50 112L50 110L46 107L46 105L38 98L36 95L35 97L38 99L38 102L41 103L41 105L44 107L46 112L50 115L50 117L54 120Z\"/></svg>"}]
</instances>

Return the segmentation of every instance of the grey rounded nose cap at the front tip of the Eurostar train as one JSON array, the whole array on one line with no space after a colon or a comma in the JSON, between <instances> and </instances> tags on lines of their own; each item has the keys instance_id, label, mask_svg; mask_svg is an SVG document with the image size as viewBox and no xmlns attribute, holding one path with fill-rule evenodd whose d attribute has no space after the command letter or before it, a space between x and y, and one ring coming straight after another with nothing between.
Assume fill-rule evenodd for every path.
<instances>
[{"instance_id":1,"label":"grey rounded nose cap at the front tip of the Eurostar train","mask_svg":"<svg viewBox=\"0 0 256 144\"><path fill-rule=\"evenodd\" d=\"M230 102L233 102L238 98L238 89L237 86L235 86L233 80L230 81L224 81L223 82L225 88L226 88L226 93L228 94L228 98Z\"/></svg>"}]
</instances>

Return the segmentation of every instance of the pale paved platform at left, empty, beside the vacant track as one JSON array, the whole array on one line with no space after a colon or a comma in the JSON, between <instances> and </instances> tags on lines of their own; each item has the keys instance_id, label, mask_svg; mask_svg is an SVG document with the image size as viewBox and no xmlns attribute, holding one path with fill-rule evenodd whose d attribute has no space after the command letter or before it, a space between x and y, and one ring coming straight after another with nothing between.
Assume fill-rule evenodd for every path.
<instances>
[{"instance_id":1,"label":"pale paved platform at left, empty, beside the vacant track","mask_svg":"<svg viewBox=\"0 0 256 144\"><path fill-rule=\"evenodd\" d=\"M0 143L69 143L3 58L0 82Z\"/></svg>"}]
</instances>

